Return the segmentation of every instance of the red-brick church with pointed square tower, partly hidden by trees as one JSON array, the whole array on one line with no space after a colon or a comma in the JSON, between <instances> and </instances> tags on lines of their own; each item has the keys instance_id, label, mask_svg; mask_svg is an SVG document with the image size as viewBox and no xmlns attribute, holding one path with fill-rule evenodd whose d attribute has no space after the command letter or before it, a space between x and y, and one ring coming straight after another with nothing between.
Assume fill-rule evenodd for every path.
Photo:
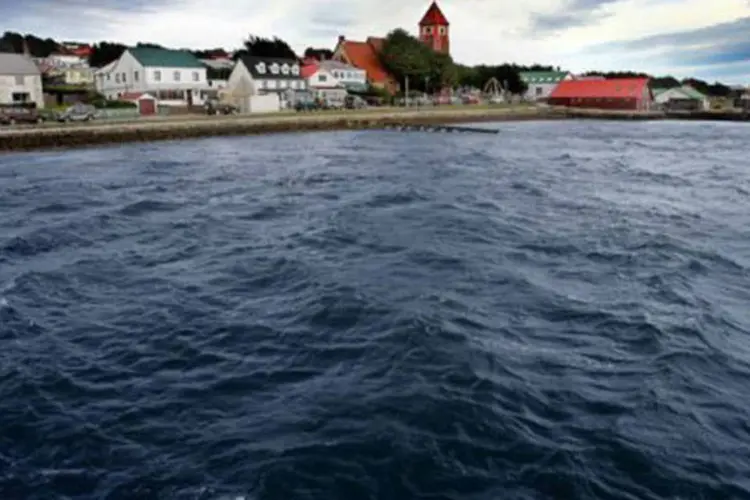
<instances>
[{"instance_id":1,"label":"red-brick church with pointed square tower, partly hidden by trees","mask_svg":"<svg viewBox=\"0 0 750 500\"><path fill-rule=\"evenodd\" d=\"M419 22L419 39L436 52L444 54L450 52L448 20L435 1ZM385 39L378 37L368 37L364 42L352 42L340 36L333 51L333 59L364 69L367 72L367 80L372 86L385 88L393 93L398 91L399 84L380 62L383 43Z\"/></svg>"}]
</instances>

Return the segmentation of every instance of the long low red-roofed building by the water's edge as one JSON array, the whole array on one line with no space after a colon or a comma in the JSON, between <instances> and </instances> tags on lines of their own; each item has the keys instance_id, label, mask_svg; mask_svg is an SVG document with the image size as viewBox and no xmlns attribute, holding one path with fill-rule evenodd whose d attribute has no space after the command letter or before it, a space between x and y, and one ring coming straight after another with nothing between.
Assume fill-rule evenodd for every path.
<instances>
[{"instance_id":1,"label":"long low red-roofed building by the water's edge","mask_svg":"<svg viewBox=\"0 0 750 500\"><path fill-rule=\"evenodd\" d=\"M648 82L648 78L563 80L547 102L553 106L574 108L647 111L651 109L654 97Z\"/></svg>"}]
</instances>

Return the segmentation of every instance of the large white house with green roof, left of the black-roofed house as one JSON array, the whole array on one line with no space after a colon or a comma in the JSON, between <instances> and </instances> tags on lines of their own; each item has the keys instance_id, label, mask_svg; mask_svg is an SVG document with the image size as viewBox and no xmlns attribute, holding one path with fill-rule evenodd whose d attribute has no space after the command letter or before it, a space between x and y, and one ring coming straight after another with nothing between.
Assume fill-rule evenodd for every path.
<instances>
[{"instance_id":1,"label":"large white house with green roof, left of the black-roofed house","mask_svg":"<svg viewBox=\"0 0 750 500\"><path fill-rule=\"evenodd\" d=\"M206 67L190 52L153 47L129 48L97 70L96 88L107 99L148 93L163 106L201 105L209 90Z\"/></svg>"}]
</instances>

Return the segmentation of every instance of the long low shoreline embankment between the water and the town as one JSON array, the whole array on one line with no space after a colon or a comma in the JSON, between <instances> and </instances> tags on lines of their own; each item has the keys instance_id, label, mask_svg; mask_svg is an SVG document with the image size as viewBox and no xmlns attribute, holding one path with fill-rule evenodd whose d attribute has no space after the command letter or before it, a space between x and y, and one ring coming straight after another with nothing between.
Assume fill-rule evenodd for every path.
<instances>
[{"instance_id":1,"label":"long low shoreline embankment between the water and the town","mask_svg":"<svg viewBox=\"0 0 750 500\"><path fill-rule=\"evenodd\" d=\"M273 113L242 116L183 116L175 119L66 124L0 129L0 153L80 148L136 142L266 133L383 129L394 125L447 125L457 123L531 120L737 120L739 113L663 113L616 110L539 108L375 109L322 113Z\"/></svg>"}]
</instances>

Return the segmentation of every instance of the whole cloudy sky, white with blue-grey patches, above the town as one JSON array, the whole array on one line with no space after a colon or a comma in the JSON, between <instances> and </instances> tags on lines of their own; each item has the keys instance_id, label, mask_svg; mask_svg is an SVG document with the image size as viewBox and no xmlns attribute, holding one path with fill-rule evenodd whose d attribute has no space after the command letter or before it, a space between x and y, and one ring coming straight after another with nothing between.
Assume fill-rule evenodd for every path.
<instances>
[{"instance_id":1,"label":"whole cloudy sky, white with blue-grey patches, above the town","mask_svg":"<svg viewBox=\"0 0 750 500\"><path fill-rule=\"evenodd\" d=\"M633 69L750 83L750 0L439 0L456 61ZM221 7L219 7L221 5ZM55 39L295 49L416 31L429 0L0 0L3 30Z\"/></svg>"}]
</instances>

